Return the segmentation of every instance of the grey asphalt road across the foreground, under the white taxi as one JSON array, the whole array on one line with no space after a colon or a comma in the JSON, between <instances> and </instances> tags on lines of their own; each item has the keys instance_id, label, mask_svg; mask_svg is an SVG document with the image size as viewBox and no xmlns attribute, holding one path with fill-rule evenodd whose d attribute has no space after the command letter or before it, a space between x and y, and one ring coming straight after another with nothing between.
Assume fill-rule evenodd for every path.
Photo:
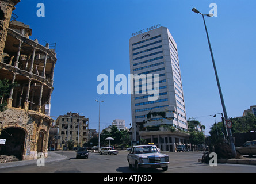
<instances>
[{"instance_id":1,"label":"grey asphalt road across the foreground, under the white taxi","mask_svg":"<svg viewBox=\"0 0 256 184\"><path fill-rule=\"evenodd\" d=\"M56 151L62 154L62 151ZM89 159L75 159L75 151L63 151L67 156L59 162L36 164L0 169L0 173L136 173L128 167L127 151L119 151L117 155L100 155L89 152ZM256 166L241 164L220 164L209 166L198 162L202 152L165 152L169 155L169 168L143 169L142 173L256 173Z\"/></svg>"}]
</instances>

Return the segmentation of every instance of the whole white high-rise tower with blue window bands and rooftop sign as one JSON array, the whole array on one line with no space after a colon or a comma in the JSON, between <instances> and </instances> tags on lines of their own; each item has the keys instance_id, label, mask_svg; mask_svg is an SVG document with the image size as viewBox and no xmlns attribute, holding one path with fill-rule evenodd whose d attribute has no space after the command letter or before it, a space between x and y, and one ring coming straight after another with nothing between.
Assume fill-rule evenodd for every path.
<instances>
[{"instance_id":1,"label":"whole white high-rise tower with blue window bands and rooftop sign","mask_svg":"<svg viewBox=\"0 0 256 184\"><path fill-rule=\"evenodd\" d=\"M175 145L188 145L188 135L174 131L187 132L188 124L177 44L169 30L160 26L131 37L129 53L133 74L132 140L142 138L165 151L175 151ZM165 112L165 116L159 112Z\"/></svg>"}]
</instances>

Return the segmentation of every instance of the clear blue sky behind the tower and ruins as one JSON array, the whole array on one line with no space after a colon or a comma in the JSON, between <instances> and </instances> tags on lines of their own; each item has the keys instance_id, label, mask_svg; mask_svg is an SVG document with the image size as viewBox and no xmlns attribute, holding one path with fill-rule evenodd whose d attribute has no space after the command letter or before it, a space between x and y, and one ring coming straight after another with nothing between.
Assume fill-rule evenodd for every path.
<instances>
[{"instance_id":1,"label":"clear blue sky behind the tower and ruins","mask_svg":"<svg viewBox=\"0 0 256 184\"><path fill-rule=\"evenodd\" d=\"M45 17L37 17L37 3L44 3ZM51 116L67 112L89 117L89 128L101 129L116 119L131 123L131 99L127 95L98 95L97 76L114 70L129 74L131 33L161 24L178 46L186 116L209 128L212 114L223 112L202 16L217 5L217 17L205 17L228 117L242 116L256 105L256 19L254 0L21 0L13 13L32 28L30 39L56 43L57 63ZM118 83L118 82L116 82ZM221 116L217 115L216 121Z\"/></svg>"}]
</instances>

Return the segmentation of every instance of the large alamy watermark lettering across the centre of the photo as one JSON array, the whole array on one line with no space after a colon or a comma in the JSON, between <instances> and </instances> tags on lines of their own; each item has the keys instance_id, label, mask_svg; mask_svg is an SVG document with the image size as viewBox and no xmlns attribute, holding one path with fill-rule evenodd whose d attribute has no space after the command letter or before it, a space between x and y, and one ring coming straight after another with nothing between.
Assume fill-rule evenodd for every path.
<instances>
[{"instance_id":1,"label":"large alamy watermark lettering across the centre of the photo","mask_svg":"<svg viewBox=\"0 0 256 184\"><path fill-rule=\"evenodd\" d=\"M127 76L124 74L118 74L115 76L114 70L110 70L109 77L106 74L100 74L97 76L97 81L101 81L97 86L97 93L100 95L148 94L148 101L156 101L159 97L158 74L128 74L127 80ZM115 82L119 83L115 84Z\"/></svg>"}]
</instances>

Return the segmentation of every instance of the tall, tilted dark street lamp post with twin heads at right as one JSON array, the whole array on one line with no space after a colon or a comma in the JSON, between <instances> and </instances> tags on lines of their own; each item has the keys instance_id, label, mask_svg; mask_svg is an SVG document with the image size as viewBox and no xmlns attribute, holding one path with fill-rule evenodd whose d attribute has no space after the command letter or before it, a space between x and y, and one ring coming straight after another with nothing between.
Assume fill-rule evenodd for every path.
<instances>
[{"instance_id":1,"label":"tall, tilted dark street lamp post with twin heads at right","mask_svg":"<svg viewBox=\"0 0 256 184\"><path fill-rule=\"evenodd\" d=\"M193 8L192 11L194 13L201 14L203 20L204 20L204 16L207 16L207 17L212 17L213 16L213 14L202 14L202 13L200 13L200 11L198 11L195 8ZM207 34L207 40L208 40L208 44L209 44L209 48L210 48L210 52L211 52L211 56L212 56L212 64L213 64L213 68L214 68L214 71L215 71L217 85L218 85L218 88L219 88L219 94L220 94L222 109L223 109L223 112L224 112L224 118L225 118L225 120L227 120L228 119L227 110L226 110L226 106L225 106L224 99L223 99L223 94L222 94L221 87L220 87L219 76L217 74L217 69L216 69L216 66L215 66L215 60L214 60L214 57L213 57L212 47L211 47L207 27L206 27L206 24L205 24L205 20L204 20L204 27L205 27L205 32ZM231 147L231 151L232 151L232 156L236 157L235 145L234 145L234 141L233 141L233 138L232 138L231 129L227 127L227 131L228 131L228 137L229 137L229 140L230 140L230 147Z\"/></svg>"}]
</instances>

